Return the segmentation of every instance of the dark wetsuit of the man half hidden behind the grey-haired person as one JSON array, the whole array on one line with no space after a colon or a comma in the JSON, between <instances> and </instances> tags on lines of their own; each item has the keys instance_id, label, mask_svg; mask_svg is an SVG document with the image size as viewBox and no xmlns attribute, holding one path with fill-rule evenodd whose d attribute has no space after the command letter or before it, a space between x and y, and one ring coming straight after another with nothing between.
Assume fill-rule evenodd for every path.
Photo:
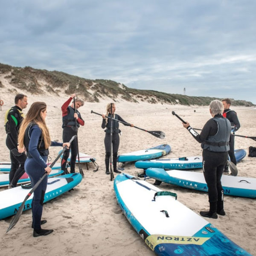
<instances>
[{"instance_id":1,"label":"dark wetsuit of the man half hidden behind the grey-haired person","mask_svg":"<svg viewBox=\"0 0 256 256\"><path fill-rule=\"evenodd\" d=\"M240 128L240 123L237 117L237 114L235 111L228 109L224 110L223 116L226 117L232 127L232 132L235 133ZM236 157L235 157L235 136L230 135L230 150L228 151L228 154L230 156L230 161L236 165Z\"/></svg>"}]
</instances>

